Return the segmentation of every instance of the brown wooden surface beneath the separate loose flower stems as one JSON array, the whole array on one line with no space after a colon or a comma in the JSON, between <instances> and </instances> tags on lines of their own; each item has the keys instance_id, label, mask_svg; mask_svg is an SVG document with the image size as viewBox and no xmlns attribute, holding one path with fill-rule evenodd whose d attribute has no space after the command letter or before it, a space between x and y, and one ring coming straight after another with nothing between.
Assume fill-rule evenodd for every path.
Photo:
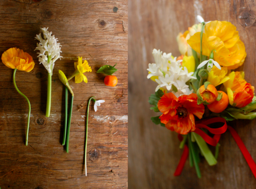
<instances>
[{"instance_id":1,"label":"brown wooden surface beneath the separate loose flower stems","mask_svg":"<svg viewBox=\"0 0 256 189\"><path fill-rule=\"evenodd\" d=\"M17 71L17 86L31 102L29 145L25 146L28 105L12 83L13 70L0 63L0 187L5 188L127 188L127 0L0 1L0 55L10 47L28 52L35 68ZM47 71L34 51L35 35L49 27L62 45L52 77L52 109L45 117ZM77 57L87 59L88 84L70 82L75 93L70 153L61 145L64 91L58 69L74 71ZM96 74L117 63L116 87ZM90 107L88 177L83 153L87 102L104 99L97 112ZM78 112L78 105L84 107Z\"/></svg>"}]
</instances>

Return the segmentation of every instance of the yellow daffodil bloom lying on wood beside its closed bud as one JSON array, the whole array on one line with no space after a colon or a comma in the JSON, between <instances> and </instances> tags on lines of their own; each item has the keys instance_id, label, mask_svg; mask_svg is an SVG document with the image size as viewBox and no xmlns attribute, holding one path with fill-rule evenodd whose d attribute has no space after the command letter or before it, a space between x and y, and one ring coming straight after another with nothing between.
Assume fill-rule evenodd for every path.
<instances>
[{"instance_id":1,"label":"yellow daffodil bloom lying on wood beside its closed bud","mask_svg":"<svg viewBox=\"0 0 256 189\"><path fill-rule=\"evenodd\" d=\"M88 82L87 77L83 75L84 72L92 72L91 67L88 65L88 62L84 60L82 63L82 57L78 57L78 62L75 62L75 69L78 74L75 76L75 83L81 83L84 81L85 83Z\"/></svg>"}]
</instances>

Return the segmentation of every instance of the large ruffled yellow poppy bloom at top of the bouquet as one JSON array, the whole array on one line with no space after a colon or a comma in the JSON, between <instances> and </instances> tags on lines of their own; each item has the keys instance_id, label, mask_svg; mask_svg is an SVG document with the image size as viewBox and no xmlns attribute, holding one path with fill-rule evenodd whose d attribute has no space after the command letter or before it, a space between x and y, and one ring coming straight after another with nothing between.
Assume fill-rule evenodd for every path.
<instances>
[{"instance_id":1,"label":"large ruffled yellow poppy bloom at top of the bouquet","mask_svg":"<svg viewBox=\"0 0 256 189\"><path fill-rule=\"evenodd\" d=\"M246 52L239 39L236 26L227 21L211 21L205 25L202 39L202 54L209 57L214 51L214 60L227 69L236 69L244 63ZM187 43L200 53L200 32L191 36Z\"/></svg>"}]
</instances>

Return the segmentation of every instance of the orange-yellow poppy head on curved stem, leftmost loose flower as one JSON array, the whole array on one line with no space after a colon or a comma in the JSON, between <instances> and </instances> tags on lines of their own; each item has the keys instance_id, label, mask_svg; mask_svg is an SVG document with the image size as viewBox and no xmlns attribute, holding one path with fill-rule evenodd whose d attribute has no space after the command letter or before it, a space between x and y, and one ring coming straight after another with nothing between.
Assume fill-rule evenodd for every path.
<instances>
[{"instance_id":1,"label":"orange-yellow poppy head on curved stem, leftmost loose flower","mask_svg":"<svg viewBox=\"0 0 256 189\"><path fill-rule=\"evenodd\" d=\"M33 58L19 48L9 48L2 55L2 62L11 69L30 72L35 63Z\"/></svg>"}]
</instances>

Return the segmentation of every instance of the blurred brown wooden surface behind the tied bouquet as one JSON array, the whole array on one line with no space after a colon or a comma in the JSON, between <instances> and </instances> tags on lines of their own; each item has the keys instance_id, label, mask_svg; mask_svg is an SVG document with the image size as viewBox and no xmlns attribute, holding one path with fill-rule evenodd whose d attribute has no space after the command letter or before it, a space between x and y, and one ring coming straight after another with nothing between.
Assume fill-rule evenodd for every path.
<instances>
[{"instance_id":1,"label":"blurred brown wooden surface behind the tied bouquet","mask_svg":"<svg viewBox=\"0 0 256 189\"><path fill-rule=\"evenodd\" d=\"M138 0L129 2L129 188L256 188L253 177L231 134L220 140L216 166L205 160L199 164L202 178L188 161L179 177L174 177L182 150L177 133L155 125L150 120L157 114L147 100L156 83L147 79L148 63L154 62L152 50L161 49L179 56L176 36L197 20L227 20L237 26L245 44L247 58L243 69L247 82L256 85L256 6L244 0ZM255 120L231 122L256 161Z\"/></svg>"}]
</instances>

